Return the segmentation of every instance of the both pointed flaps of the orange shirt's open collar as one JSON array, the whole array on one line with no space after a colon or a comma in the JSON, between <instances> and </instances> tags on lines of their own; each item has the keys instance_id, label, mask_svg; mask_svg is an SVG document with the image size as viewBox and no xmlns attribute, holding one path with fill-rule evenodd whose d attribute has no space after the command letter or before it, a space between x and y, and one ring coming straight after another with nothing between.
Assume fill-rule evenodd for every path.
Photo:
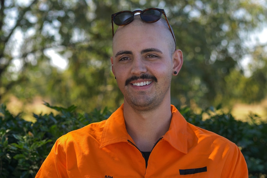
<instances>
[{"instance_id":1,"label":"both pointed flaps of the orange shirt's open collar","mask_svg":"<svg viewBox=\"0 0 267 178\"><path fill-rule=\"evenodd\" d=\"M132 141L129 136L123 116L122 104L106 121L101 137L100 148L107 145ZM163 136L163 140L169 142L175 149L187 153L187 122L175 106L171 105L172 120L169 130ZM133 142L133 141L132 141Z\"/></svg>"}]
</instances>

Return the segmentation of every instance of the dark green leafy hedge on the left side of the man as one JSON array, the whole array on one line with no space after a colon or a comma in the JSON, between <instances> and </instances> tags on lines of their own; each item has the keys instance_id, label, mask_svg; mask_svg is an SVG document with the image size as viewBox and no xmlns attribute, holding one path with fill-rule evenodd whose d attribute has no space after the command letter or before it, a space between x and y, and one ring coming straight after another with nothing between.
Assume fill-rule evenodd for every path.
<instances>
[{"instance_id":1,"label":"dark green leafy hedge on the left side of the man","mask_svg":"<svg viewBox=\"0 0 267 178\"><path fill-rule=\"evenodd\" d=\"M36 122L28 122L21 115L12 115L5 105L0 108L0 177L35 177L42 162L50 152L56 139L69 131L92 122L107 119L111 114L107 108L77 113L76 106L68 108L46 106L59 111L36 115Z\"/></svg>"}]
</instances>

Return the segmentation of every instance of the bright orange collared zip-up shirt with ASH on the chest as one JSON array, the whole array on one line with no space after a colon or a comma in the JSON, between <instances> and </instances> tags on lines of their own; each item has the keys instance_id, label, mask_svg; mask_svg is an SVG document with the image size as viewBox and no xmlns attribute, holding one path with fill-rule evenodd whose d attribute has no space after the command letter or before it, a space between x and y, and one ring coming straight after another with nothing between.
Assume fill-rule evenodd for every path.
<instances>
[{"instance_id":1,"label":"bright orange collared zip-up shirt with ASH on the chest","mask_svg":"<svg viewBox=\"0 0 267 178\"><path fill-rule=\"evenodd\" d=\"M213 132L186 122L171 105L169 131L145 159L125 128L123 105L107 120L60 137L36 178L247 178L239 148ZM131 143L132 142L132 143Z\"/></svg>"}]
</instances>

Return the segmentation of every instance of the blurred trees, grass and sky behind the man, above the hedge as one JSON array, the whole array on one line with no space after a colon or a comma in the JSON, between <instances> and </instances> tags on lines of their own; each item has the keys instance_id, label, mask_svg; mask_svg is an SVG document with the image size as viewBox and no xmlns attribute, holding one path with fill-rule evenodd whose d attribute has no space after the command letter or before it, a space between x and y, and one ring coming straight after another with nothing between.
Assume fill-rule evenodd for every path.
<instances>
[{"instance_id":1,"label":"blurred trees, grass and sky behind the man, above the hedge","mask_svg":"<svg viewBox=\"0 0 267 178\"><path fill-rule=\"evenodd\" d=\"M172 104L267 118L265 0L1 0L0 103L29 120L50 112L44 101L115 111L111 14L150 7L165 10L184 56Z\"/></svg>"}]
</instances>

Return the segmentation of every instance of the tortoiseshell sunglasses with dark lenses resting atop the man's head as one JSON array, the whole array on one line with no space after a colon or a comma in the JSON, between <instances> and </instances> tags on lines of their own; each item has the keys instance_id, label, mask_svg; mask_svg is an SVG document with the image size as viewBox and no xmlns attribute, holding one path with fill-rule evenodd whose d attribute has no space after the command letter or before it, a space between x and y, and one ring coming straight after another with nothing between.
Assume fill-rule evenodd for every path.
<instances>
[{"instance_id":1,"label":"tortoiseshell sunglasses with dark lenses resting atop the man's head","mask_svg":"<svg viewBox=\"0 0 267 178\"><path fill-rule=\"evenodd\" d=\"M115 14L111 15L111 23L112 23L112 37L114 37L114 28L113 28L113 23L118 25L118 26L124 26L127 25L129 23L131 23L134 20L134 14L139 12L140 13L140 17L144 22L147 23L154 23L158 20L160 20L162 14L165 16L165 19L167 21L167 24L169 26L170 32L172 33L173 36L173 40L175 42L175 46L176 46L176 41L175 41L175 37L173 34L173 31L171 29L171 26L169 24L167 15L164 11L164 9L158 9L158 8L148 8L145 9L143 11L141 10L136 10L136 11L120 11L117 12Z\"/></svg>"}]
</instances>

